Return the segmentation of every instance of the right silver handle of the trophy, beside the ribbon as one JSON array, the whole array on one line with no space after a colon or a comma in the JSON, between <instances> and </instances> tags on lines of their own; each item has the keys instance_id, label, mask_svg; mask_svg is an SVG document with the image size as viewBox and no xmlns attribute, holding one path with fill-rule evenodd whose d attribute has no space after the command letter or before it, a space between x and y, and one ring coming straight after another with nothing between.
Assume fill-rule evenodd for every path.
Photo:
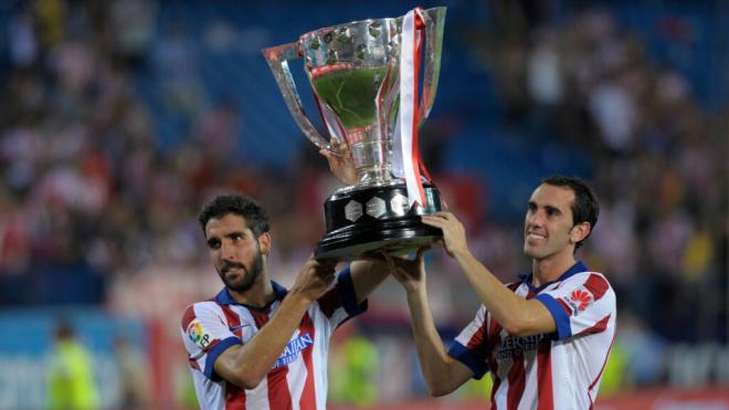
<instances>
[{"instance_id":1,"label":"right silver handle of the trophy, beside the ribbon","mask_svg":"<svg viewBox=\"0 0 729 410\"><path fill-rule=\"evenodd\" d=\"M423 73L423 95L421 96L419 114L422 128L431 114L437 91L437 78L441 73L441 51L443 50L443 28L445 8L436 7L423 11L425 17L425 72Z\"/></svg>"}]
</instances>

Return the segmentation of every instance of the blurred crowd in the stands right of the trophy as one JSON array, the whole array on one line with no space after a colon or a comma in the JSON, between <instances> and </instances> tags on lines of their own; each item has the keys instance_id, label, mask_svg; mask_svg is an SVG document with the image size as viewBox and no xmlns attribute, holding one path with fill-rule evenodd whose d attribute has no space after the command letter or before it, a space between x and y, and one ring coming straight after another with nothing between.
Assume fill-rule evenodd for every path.
<instances>
[{"instance_id":1,"label":"blurred crowd in the stands right of the trophy","mask_svg":"<svg viewBox=\"0 0 729 410\"><path fill-rule=\"evenodd\" d=\"M539 8L497 3L503 24L480 52L505 118L533 144L579 146L592 161L601 213L582 256L610 275L621 314L672 339L726 340L727 98L707 108L606 10L550 23ZM666 38L676 48L697 35L674 28Z\"/></svg>"}]
</instances>

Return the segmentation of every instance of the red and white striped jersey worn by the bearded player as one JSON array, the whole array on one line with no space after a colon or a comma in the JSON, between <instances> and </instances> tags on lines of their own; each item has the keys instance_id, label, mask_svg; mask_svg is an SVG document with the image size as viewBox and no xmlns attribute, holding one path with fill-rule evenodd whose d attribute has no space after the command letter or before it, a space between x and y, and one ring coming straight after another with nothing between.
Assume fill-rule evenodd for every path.
<instances>
[{"instance_id":1,"label":"red and white striped jersey worn by the bearded player","mask_svg":"<svg viewBox=\"0 0 729 410\"><path fill-rule=\"evenodd\" d=\"M184 312L182 339L201 409L326 409L329 338L340 324L367 309L367 301L357 304L349 267L309 306L257 387L240 388L213 369L226 348L246 344L275 315L287 291L272 283L276 297L262 308L239 304L223 288L215 298L194 303Z\"/></svg>"}]
</instances>

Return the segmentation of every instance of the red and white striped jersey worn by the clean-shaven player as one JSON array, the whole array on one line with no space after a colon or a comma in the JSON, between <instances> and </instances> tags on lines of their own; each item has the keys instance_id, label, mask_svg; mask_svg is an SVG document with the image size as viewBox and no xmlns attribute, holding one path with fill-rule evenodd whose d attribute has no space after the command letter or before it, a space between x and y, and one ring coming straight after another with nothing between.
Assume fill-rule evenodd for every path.
<instances>
[{"instance_id":1,"label":"red and white striped jersey worn by the clean-shaven player","mask_svg":"<svg viewBox=\"0 0 729 410\"><path fill-rule=\"evenodd\" d=\"M508 285L547 306L557 332L510 336L480 306L448 354L480 379L492 372L494 409L592 409L615 337L615 293L582 262L540 287Z\"/></svg>"}]
</instances>

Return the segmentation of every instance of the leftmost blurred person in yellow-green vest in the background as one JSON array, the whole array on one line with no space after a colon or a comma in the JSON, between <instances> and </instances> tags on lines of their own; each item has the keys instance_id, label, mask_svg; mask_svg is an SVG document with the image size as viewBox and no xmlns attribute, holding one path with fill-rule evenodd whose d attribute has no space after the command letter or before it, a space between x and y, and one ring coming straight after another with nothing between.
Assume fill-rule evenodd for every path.
<instances>
[{"instance_id":1,"label":"leftmost blurred person in yellow-green vest in the background","mask_svg":"<svg viewBox=\"0 0 729 410\"><path fill-rule=\"evenodd\" d=\"M91 410L99 407L91 353L76 339L67 319L59 319L47 368L50 409Z\"/></svg>"}]
</instances>

